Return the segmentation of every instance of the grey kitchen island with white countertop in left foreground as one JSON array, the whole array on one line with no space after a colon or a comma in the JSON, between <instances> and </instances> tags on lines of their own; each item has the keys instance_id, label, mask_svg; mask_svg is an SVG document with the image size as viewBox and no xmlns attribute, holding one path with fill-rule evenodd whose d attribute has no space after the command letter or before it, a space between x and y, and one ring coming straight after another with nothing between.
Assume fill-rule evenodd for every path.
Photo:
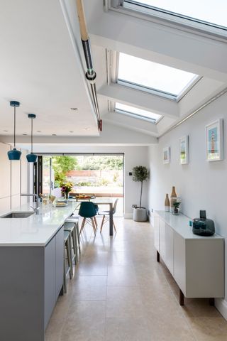
<instances>
[{"instance_id":1,"label":"grey kitchen island with white countertop in left foreground","mask_svg":"<svg viewBox=\"0 0 227 341\"><path fill-rule=\"evenodd\" d=\"M74 208L71 204L20 219L0 217L0 340L45 340L63 285L62 224Z\"/></svg>"}]
</instances>

